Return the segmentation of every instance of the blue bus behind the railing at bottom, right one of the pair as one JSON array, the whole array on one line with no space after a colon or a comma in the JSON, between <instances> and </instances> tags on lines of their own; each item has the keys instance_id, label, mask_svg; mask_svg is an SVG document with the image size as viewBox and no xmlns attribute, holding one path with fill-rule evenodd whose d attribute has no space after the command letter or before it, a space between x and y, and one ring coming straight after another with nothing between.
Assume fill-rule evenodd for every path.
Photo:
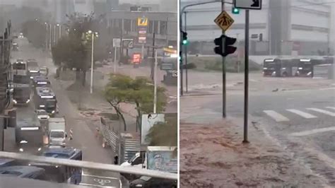
<instances>
[{"instance_id":1,"label":"blue bus behind the railing at bottom, right one of the pair","mask_svg":"<svg viewBox=\"0 0 335 188\"><path fill-rule=\"evenodd\" d=\"M71 160L83 160L83 152L77 148L62 148L57 146L49 146L42 156L49 158L63 158ZM45 173L52 182L71 182L78 184L81 182L82 169L66 165L50 165L46 163L30 163L31 166L37 166L45 169Z\"/></svg>"}]
</instances>

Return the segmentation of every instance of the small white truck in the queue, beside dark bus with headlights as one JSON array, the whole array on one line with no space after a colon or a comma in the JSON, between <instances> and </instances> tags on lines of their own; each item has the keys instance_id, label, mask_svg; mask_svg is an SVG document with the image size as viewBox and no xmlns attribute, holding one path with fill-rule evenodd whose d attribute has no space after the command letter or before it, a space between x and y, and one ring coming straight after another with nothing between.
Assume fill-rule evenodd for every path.
<instances>
[{"instance_id":1,"label":"small white truck in the queue, beside dark bus with headlights","mask_svg":"<svg viewBox=\"0 0 335 188\"><path fill-rule=\"evenodd\" d=\"M67 137L65 126L66 122L64 117L49 118L49 124L47 128L49 145L65 147L65 140Z\"/></svg>"}]
</instances>

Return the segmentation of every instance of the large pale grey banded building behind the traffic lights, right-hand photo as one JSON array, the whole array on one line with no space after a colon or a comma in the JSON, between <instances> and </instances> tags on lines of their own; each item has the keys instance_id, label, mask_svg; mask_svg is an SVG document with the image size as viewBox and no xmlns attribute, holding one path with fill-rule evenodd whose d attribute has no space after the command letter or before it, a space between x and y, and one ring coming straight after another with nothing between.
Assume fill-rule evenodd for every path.
<instances>
[{"instance_id":1,"label":"large pale grey banded building behind the traffic lights, right-hand photo","mask_svg":"<svg viewBox=\"0 0 335 188\"><path fill-rule=\"evenodd\" d=\"M187 1L182 6L196 2ZM332 46L331 23L334 23L331 2L263 0L262 3L261 10L250 11L250 54L317 55L332 51L329 49ZM233 14L229 4L225 5L225 11L235 20L227 35L243 42L245 11ZM213 39L221 35L221 29L213 22L219 13L221 3L192 6L186 10L189 40L201 42L201 52L213 53Z\"/></svg>"}]
</instances>

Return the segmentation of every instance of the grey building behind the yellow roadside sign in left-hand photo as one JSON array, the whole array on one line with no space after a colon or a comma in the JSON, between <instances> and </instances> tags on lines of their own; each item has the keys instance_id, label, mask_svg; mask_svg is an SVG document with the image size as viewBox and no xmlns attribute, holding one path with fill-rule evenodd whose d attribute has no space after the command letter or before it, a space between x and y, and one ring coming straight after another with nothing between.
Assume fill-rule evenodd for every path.
<instances>
[{"instance_id":1,"label":"grey building behind the yellow roadside sign in left-hand photo","mask_svg":"<svg viewBox=\"0 0 335 188\"><path fill-rule=\"evenodd\" d=\"M155 33L155 45L177 46L177 13L170 12L111 11L107 14L109 33L105 37L110 37L108 41L120 37L133 39L133 50L139 49L141 52L137 19L143 16L148 18L146 46L153 45L153 33ZM145 54L149 53L148 49L146 48Z\"/></svg>"}]
</instances>

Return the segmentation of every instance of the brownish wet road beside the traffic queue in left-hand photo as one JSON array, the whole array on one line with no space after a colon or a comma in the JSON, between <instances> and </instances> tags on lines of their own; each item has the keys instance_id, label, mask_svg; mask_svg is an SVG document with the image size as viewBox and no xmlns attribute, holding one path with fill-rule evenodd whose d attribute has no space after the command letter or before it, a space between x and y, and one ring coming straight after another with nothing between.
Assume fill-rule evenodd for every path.
<instances>
[{"instance_id":1,"label":"brownish wet road beside the traffic queue in left-hand photo","mask_svg":"<svg viewBox=\"0 0 335 188\"><path fill-rule=\"evenodd\" d=\"M52 59L48 54L43 54L42 50L35 49L32 45L28 43L28 40L22 39L18 40L18 45L20 51L13 52L13 59L36 59L39 66L47 66L49 68L49 81L52 83L52 90L57 96L57 105L59 107L58 116L64 116L66 119L66 131L69 129L74 131L74 139L68 141L68 146L74 148L79 148L83 151L83 160L93 161L97 163L113 163L114 153L111 150L102 148L98 139L95 139L93 131L88 127L90 123L88 119L84 119L76 109L76 107L71 103L69 98L66 96L65 91L61 88L58 81L54 79L54 73L56 67L52 63ZM18 107L18 119L25 118L32 115L33 107ZM7 130L13 131L13 130ZM6 134L13 135L13 134ZM13 138L8 138L7 136L6 145L7 148L13 148L10 146ZM7 142L8 141L8 142ZM94 175L96 171L84 170L86 174ZM104 175L105 172L99 172L98 175ZM106 172L109 176L119 177L119 173L116 172Z\"/></svg>"}]
</instances>

